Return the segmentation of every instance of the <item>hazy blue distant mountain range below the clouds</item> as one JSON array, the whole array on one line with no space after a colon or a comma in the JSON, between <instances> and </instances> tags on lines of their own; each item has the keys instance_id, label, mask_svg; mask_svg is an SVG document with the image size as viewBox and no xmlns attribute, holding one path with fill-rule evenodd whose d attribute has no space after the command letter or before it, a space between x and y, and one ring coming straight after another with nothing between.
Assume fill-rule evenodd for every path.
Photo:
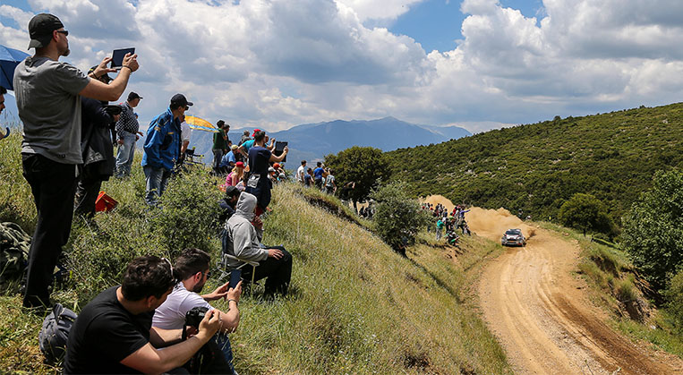
<instances>
[{"instance_id":1,"label":"hazy blue distant mountain range below the clouds","mask_svg":"<svg viewBox=\"0 0 683 375\"><path fill-rule=\"evenodd\" d=\"M231 141L238 142L245 129L231 129ZM246 129L250 132L252 128ZM268 132L267 129L262 129ZM318 124L302 124L280 132L268 132L277 141L286 141L289 146L287 161L290 167L301 160L317 161L328 154L336 154L352 146L371 146L383 151L429 145L455 140L472 135L458 126L430 126L410 124L394 117L384 117L370 121L336 120ZM204 161L212 160L212 133L192 132L191 147L204 155Z\"/></svg>"}]
</instances>

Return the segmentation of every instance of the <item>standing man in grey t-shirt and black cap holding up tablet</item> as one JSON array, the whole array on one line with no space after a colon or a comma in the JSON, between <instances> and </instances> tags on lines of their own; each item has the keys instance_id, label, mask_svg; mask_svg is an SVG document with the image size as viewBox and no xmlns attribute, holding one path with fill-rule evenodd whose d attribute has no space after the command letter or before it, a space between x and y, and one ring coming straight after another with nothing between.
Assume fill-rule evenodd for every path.
<instances>
[{"instance_id":1,"label":"standing man in grey t-shirt and black cap holding up tablet","mask_svg":"<svg viewBox=\"0 0 683 375\"><path fill-rule=\"evenodd\" d=\"M26 307L50 304L48 286L55 264L68 241L73 219L76 178L81 156L81 99L118 100L137 55L126 55L124 66L110 84L92 80L76 67L60 63L69 55L69 31L52 14L40 13L29 22L29 48L36 54L17 65L14 93L23 123L23 175L36 201L38 217L29 255L29 273L23 299ZM92 76L115 72L98 65Z\"/></svg>"}]
</instances>

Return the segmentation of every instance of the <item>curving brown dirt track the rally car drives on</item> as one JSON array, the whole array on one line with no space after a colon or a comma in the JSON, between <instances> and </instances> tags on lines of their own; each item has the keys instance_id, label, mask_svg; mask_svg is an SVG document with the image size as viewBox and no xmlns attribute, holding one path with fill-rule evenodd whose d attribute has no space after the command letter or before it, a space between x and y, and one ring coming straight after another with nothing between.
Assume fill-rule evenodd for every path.
<instances>
[{"instance_id":1,"label":"curving brown dirt track the rally car drives on","mask_svg":"<svg viewBox=\"0 0 683 375\"><path fill-rule=\"evenodd\" d=\"M442 197L428 201L450 203ZM683 373L678 357L635 345L604 324L602 311L586 299L585 283L572 276L576 243L526 226L504 209L473 208L467 222L475 234L496 242L508 228L529 237L526 247L492 260L479 285L484 319L515 373Z\"/></svg>"}]
</instances>

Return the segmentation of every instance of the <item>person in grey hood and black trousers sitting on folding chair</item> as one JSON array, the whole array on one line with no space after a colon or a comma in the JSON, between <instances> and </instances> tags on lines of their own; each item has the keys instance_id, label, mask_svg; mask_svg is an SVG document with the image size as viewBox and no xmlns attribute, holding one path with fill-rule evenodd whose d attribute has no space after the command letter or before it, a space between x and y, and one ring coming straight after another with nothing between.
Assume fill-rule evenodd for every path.
<instances>
[{"instance_id":1,"label":"person in grey hood and black trousers sitting on folding chair","mask_svg":"<svg viewBox=\"0 0 683 375\"><path fill-rule=\"evenodd\" d=\"M292 277L292 255L282 246L266 247L261 244L263 235L259 217L255 216L256 197L248 192L240 194L235 215L226 223L226 230L232 238L227 242L226 253L232 257L228 268L242 267L246 261L258 261L254 280L266 278L266 295L286 294ZM251 267L242 268L244 280L252 278Z\"/></svg>"}]
</instances>

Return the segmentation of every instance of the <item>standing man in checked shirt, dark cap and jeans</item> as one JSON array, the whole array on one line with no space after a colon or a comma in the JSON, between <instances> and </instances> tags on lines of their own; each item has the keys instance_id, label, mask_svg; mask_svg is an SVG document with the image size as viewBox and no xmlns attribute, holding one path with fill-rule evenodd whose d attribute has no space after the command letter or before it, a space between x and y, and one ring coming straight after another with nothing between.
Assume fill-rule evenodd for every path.
<instances>
[{"instance_id":1,"label":"standing man in checked shirt, dark cap and jeans","mask_svg":"<svg viewBox=\"0 0 683 375\"><path fill-rule=\"evenodd\" d=\"M140 139L140 124L132 109L138 107L142 97L137 92L128 93L128 100L121 105L121 117L116 122L116 177L122 178L131 174L132 158L135 156L135 142Z\"/></svg>"}]
</instances>

